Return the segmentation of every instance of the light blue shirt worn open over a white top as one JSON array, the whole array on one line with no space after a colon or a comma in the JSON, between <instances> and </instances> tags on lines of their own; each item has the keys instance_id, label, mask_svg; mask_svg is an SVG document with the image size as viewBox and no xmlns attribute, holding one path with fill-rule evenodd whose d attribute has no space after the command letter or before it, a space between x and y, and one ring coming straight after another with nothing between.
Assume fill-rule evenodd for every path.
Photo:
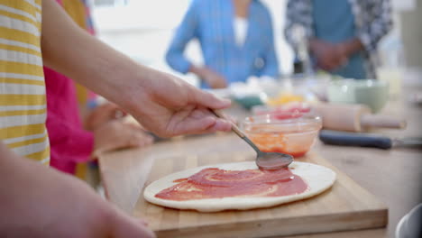
<instances>
[{"instance_id":1,"label":"light blue shirt worn open over a white top","mask_svg":"<svg viewBox=\"0 0 422 238\"><path fill-rule=\"evenodd\" d=\"M268 9L253 0L247 21L246 39L243 46L238 46L232 1L193 0L170 43L166 60L172 69L187 73L191 62L183 52L188 41L197 39L206 67L224 76L228 83L245 81L251 76L277 77L279 63Z\"/></svg>"}]
</instances>

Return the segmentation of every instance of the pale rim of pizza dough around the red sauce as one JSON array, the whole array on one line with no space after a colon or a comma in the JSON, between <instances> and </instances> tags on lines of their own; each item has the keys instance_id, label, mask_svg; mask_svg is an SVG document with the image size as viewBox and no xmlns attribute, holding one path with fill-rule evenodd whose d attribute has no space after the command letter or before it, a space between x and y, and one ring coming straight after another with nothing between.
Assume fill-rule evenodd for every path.
<instances>
[{"instance_id":1,"label":"pale rim of pizza dough around the red sauce","mask_svg":"<svg viewBox=\"0 0 422 238\"><path fill-rule=\"evenodd\" d=\"M335 182L335 172L326 167L294 161L289 165L291 171L300 176L307 183L307 190L300 194L282 197L223 197L206 198L195 200L175 201L161 199L155 195L165 188L174 186L174 180L188 178L189 176L206 168L217 168L225 170L258 169L254 161L216 164L211 166L197 167L170 174L164 178L152 182L143 192L143 197L152 204L167 206L177 209L194 209L199 212L218 212L223 210L247 210L260 207L278 206L280 204L316 196Z\"/></svg>"}]
</instances>

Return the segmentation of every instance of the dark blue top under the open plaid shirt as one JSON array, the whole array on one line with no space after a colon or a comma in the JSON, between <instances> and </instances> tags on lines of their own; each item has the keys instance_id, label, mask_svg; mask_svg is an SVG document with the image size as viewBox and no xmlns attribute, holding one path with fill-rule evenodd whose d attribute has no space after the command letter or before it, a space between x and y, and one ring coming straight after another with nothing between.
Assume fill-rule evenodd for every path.
<instances>
[{"instance_id":1,"label":"dark blue top under the open plaid shirt","mask_svg":"<svg viewBox=\"0 0 422 238\"><path fill-rule=\"evenodd\" d=\"M354 15L348 0L312 0L316 38L338 43L356 37ZM366 78L363 52L356 52L332 73L344 78Z\"/></svg>"}]
</instances>

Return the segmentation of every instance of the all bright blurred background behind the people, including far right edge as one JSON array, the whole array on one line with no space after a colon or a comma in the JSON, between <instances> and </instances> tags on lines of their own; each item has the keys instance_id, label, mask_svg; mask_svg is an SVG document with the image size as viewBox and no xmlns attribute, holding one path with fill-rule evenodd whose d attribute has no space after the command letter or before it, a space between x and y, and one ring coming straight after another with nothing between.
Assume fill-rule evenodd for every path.
<instances>
[{"instance_id":1,"label":"all bright blurred background behind the people, including far right edge","mask_svg":"<svg viewBox=\"0 0 422 238\"><path fill-rule=\"evenodd\" d=\"M154 69L179 75L164 60L171 37L186 13L191 0L89 0L97 36L115 49ZM282 75L293 70L293 53L287 44L283 28L286 0L262 0L271 11L276 50ZM392 0L394 30L381 41L379 78L389 80L391 90L399 90L399 71L407 67L422 68L422 0ZM406 26L406 27L403 27ZM188 45L187 55L202 62L197 41ZM180 76L180 75L179 75ZM197 85L192 74L183 76ZM417 80L418 81L418 80Z\"/></svg>"}]
</instances>

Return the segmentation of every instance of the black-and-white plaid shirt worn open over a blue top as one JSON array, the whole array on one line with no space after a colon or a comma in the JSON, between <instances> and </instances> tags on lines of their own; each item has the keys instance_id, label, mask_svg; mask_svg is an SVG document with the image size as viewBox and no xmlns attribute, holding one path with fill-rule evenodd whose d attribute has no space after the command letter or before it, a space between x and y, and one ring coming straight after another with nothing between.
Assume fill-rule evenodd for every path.
<instances>
[{"instance_id":1,"label":"black-and-white plaid shirt worn open over a blue top","mask_svg":"<svg viewBox=\"0 0 422 238\"><path fill-rule=\"evenodd\" d=\"M336 0L333 0L336 1ZM348 0L352 6L356 37L364 47L365 69L368 78L376 78L374 60L376 49L381 38L390 32L392 27L390 0ZM289 0L285 35L293 49L297 47L293 41L293 26L305 27L307 38L315 36L312 19L312 0Z\"/></svg>"}]
</instances>

